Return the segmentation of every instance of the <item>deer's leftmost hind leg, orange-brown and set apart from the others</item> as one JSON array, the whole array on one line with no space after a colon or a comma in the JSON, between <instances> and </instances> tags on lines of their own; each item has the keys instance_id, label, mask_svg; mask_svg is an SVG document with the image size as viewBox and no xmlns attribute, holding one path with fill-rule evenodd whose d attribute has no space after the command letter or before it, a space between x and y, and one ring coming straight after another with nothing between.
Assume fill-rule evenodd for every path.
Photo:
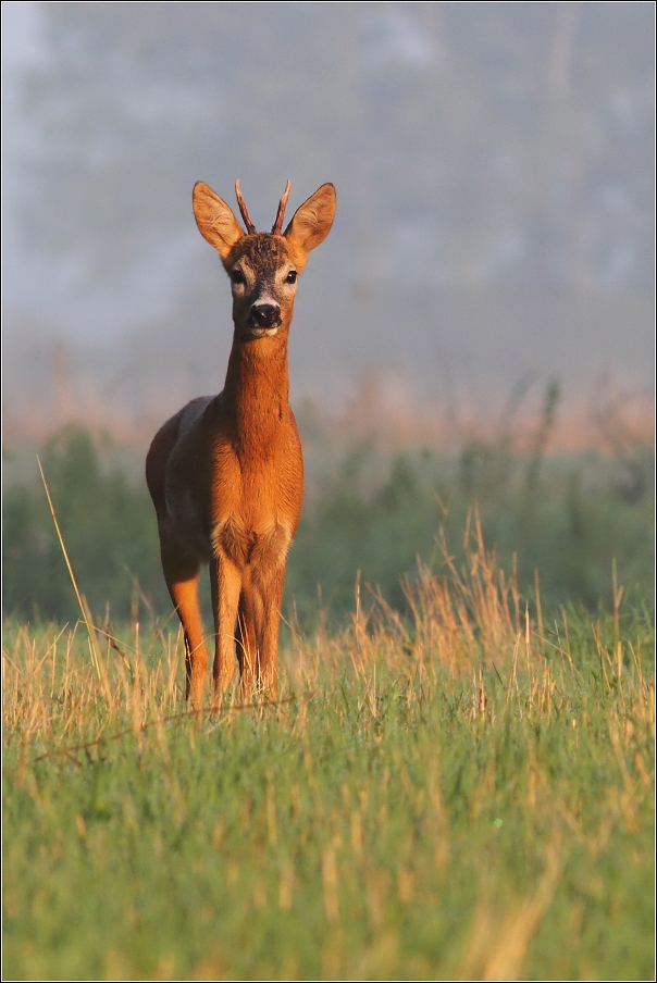
<instances>
[{"instance_id":1,"label":"deer's leftmost hind leg, orange-brown and set apart from the others","mask_svg":"<svg viewBox=\"0 0 657 983\"><path fill-rule=\"evenodd\" d=\"M177 544L160 533L162 570L169 593L185 633L185 698L200 707L208 671L208 649L203 640L203 622L198 604L199 561L182 553Z\"/></svg>"}]
</instances>

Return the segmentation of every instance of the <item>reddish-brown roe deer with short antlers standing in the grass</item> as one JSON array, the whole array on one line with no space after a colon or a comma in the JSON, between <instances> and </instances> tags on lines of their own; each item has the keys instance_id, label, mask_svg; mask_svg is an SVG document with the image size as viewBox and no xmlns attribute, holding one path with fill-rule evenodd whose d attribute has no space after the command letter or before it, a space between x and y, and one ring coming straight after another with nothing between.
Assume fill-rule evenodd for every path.
<instances>
[{"instance_id":1,"label":"reddish-brown roe deer with short antlers standing in the grass","mask_svg":"<svg viewBox=\"0 0 657 983\"><path fill-rule=\"evenodd\" d=\"M289 407L287 343L300 274L328 235L332 184L322 185L282 232L290 184L271 233L245 228L202 182L196 224L231 281L233 344L223 390L193 399L158 431L146 458L162 571L185 639L185 697L202 706L208 648L198 601L208 564L214 618L214 699L239 667L244 700L275 699L285 564L303 496L303 458Z\"/></svg>"}]
</instances>

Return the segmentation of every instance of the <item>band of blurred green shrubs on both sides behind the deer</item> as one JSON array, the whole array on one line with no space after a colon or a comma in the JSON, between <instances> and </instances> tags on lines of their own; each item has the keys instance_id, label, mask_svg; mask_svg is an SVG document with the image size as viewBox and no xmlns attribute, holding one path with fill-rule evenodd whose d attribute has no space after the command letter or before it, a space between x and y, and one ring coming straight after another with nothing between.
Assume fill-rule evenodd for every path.
<instances>
[{"instance_id":1,"label":"band of blurred green shrubs on both sides behind the deer","mask_svg":"<svg viewBox=\"0 0 657 983\"><path fill-rule=\"evenodd\" d=\"M401 612L400 577L418 576L418 559L439 572L442 528L462 560L463 530L479 512L484 542L501 564L516 565L521 593L541 572L544 607L610 601L611 565L636 599L654 582L653 449L628 444L615 456L545 457L555 390L529 447L511 433L473 439L459 455L408 450L384 455L374 441L336 447L330 428L300 414L309 459L301 523L287 564L285 610L305 626L321 593L333 624L354 605L358 577ZM117 449L66 428L41 455L44 471L75 575L97 619L137 620L150 609L166 618L171 602L159 562L154 513L139 460L127 477ZM113 463L112 463L113 462ZM133 471L136 468L133 466ZM78 617L41 481L4 494L4 610L63 623ZM203 580L206 580L203 577ZM363 597L367 595L363 589ZM109 610L109 615L108 615Z\"/></svg>"}]
</instances>

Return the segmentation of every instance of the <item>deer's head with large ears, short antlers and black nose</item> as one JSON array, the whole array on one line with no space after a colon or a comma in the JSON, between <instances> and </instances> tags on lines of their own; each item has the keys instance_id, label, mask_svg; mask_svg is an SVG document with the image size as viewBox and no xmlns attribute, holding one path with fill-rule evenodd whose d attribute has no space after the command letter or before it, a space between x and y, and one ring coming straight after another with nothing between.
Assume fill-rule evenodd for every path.
<instances>
[{"instance_id":1,"label":"deer's head with large ears, short antlers and black nose","mask_svg":"<svg viewBox=\"0 0 657 983\"><path fill-rule=\"evenodd\" d=\"M193 203L199 232L214 246L231 278L237 336L249 341L287 334L308 253L326 238L333 224L335 188L322 185L299 206L284 233L289 182L271 233L256 231L239 182L235 194L246 233L225 201L200 181L194 186Z\"/></svg>"}]
</instances>

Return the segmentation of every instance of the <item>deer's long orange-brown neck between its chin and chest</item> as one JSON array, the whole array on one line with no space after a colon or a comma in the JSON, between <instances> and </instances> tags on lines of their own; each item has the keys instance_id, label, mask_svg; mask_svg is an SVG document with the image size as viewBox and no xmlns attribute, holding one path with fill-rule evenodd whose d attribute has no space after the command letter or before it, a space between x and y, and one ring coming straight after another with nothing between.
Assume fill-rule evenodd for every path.
<instances>
[{"instance_id":1,"label":"deer's long orange-brown neck between its chin and chest","mask_svg":"<svg viewBox=\"0 0 657 983\"><path fill-rule=\"evenodd\" d=\"M237 446L248 450L275 441L286 419L288 397L287 332L240 341L236 331L223 398Z\"/></svg>"}]
</instances>

